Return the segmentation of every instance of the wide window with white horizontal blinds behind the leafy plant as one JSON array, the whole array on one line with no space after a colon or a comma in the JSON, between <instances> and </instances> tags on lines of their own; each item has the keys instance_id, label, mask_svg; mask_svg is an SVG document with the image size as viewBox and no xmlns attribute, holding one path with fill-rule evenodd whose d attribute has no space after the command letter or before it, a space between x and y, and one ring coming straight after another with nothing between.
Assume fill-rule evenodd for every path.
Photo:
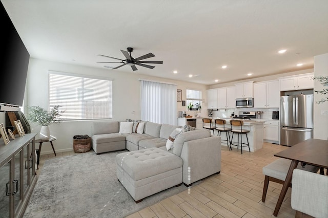
<instances>
[{"instance_id":1,"label":"wide window with white horizontal blinds behind the leafy plant","mask_svg":"<svg viewBox=\"0 0 328 218\"><path fill-rule=\"evenodd\" d=\"M112 119L112 80L49 72L49 110L60 105L63 120Z\"/></svg>"}]
</instances>

